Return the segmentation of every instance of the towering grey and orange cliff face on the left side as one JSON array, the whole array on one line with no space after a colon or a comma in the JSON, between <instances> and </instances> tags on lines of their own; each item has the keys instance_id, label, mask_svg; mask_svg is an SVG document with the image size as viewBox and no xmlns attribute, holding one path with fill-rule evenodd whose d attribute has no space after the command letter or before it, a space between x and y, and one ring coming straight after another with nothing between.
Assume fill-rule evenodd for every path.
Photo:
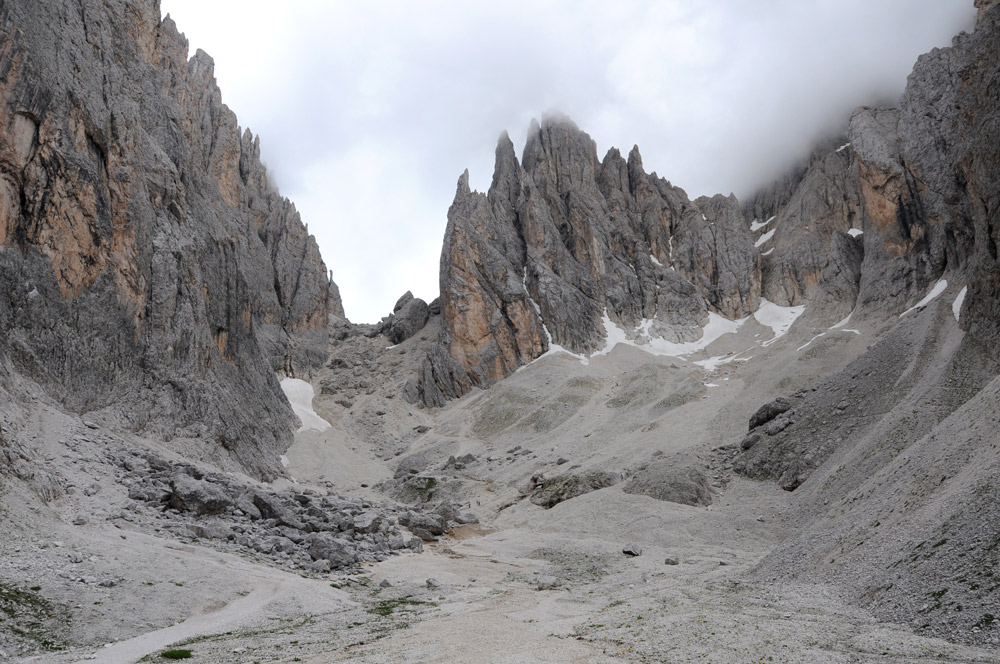
<instances>
[{"instance_id":1,"label":"towering grey and orange cliff face on the left side","mask_svg":"<svg viewBox=\"0 0 1000 664\"><path fill-rule=\"evenodd\" d=\"M155 0L8 0L0 108L0 355L69 408L273 473L274 372L321 362L343 310L211 58Z\"/></svg>"}]
</instances>

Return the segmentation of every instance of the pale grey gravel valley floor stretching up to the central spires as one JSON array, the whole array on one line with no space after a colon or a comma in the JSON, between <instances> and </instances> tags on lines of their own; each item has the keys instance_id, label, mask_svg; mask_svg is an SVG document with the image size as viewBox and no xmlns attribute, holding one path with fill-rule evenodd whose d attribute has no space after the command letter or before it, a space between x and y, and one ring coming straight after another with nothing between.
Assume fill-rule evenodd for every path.
<instances>
[{"instance_id":1,"label":"pale grey gravel valley floor stretching up to the central spires","mask_svg":"<svg viewBox=\"0 0 1000 664\"><path fill-rule=\"evenodd\" d=\"M247 664L997 661L990 647L880 622L822 578L761 574L800 528L802 499L734 475L733 458L749 414L871 341L829 335L790 371L790 353L820 329L803 325L766 351L753 329L720 340L713 356L751 359L711 374L626 347L587 366L548 357L434 412L400 399L396 380L428 339L390 349L349 339L313 381L314 408L331 428L300 432L287 453L294 480L273 485L42 403L18 435L38 443L61 488L46 504L5 480L2 657L168 661L160 653L181 649L189 661ZM666 479L632 492L657 468L678 472L657 471ZM181 489L202 482L228 503L198 514L204 500L192 508L174 498L178 474ZM601 483L579 479L595 474ZM251 506L267 504L255 492L291 513L253 518ZM689 495L694 504L675 502ZM448 534L421 533L422 552L379 548L410 542L413 516L441 504L479 523L446 520ZM277 523L296 519L303 528ZM354 562L327 571L327 558L309 555L317 533L349 543ZM288 550L255 545L272 537Z\"/></svg>"}]
</instances>

